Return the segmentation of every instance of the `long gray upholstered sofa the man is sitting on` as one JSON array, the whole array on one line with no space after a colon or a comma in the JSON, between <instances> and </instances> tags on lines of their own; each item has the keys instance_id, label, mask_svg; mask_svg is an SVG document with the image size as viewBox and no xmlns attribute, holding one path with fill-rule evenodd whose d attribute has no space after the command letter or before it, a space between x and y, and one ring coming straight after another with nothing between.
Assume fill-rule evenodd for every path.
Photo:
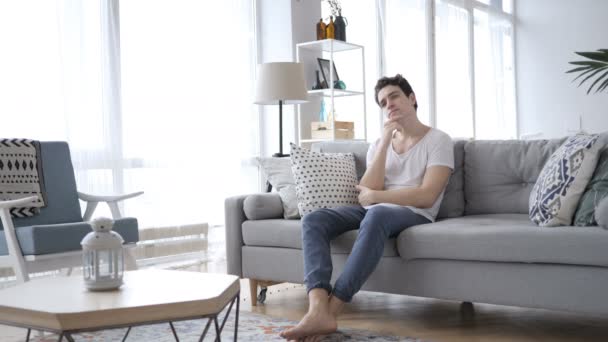
<instances>
[{"instance_id":1,"label":"long gray upholstered sofa the man is sitting on","mask_svg":"<svg viewBox=\"0 0 608 342\"><path fill-rule=\"evenodd\" d=\"M541 228L528 218L530 191L562 141L455 142L437 221L389 240L363 290L608 314L608 231ZM324 142L313 149L354 152L361 176L367 146ZM228 273L250 278L252 294L260 281L302 283L300 220L282 219L276 193L228 198L225 214ZM333 241L334 280L356 236Z\"/></svg>"}]
</instances>

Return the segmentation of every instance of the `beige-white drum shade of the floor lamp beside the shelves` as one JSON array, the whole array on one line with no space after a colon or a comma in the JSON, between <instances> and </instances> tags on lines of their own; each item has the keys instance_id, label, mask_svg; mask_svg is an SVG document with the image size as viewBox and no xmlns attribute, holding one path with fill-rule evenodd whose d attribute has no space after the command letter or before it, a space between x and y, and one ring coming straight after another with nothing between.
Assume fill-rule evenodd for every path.
<instances>
[{"instance_id":1,"label":"beige-white drum shade of the floor lamp beside the shelves","mask_svg":"<svg viewBox=\"0 0 608 342\"><path fill-rule=\"evenodd\" d=\"M302 63L275 62L258 65L254 103L261 105L308 102Z\"/></svg>"}]
</instances>

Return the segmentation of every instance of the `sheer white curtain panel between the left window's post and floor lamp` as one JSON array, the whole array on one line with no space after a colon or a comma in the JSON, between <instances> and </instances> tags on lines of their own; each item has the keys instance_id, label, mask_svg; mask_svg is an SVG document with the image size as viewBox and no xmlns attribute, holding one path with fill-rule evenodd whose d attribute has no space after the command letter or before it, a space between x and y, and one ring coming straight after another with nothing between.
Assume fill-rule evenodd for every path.
<instances>
[{"instance_id":1,"label":"sheer white curtain panel between the left window's post and floor lamp","mask_svg":"<svg viewBox=\"0 0 608 342\"><path fill-rule=\"evenodd\" d=\"M121 2L127 190L150 225L223 222L224 199L258 190L253 8L247 0Z\"/></svg>"}]
</instances>

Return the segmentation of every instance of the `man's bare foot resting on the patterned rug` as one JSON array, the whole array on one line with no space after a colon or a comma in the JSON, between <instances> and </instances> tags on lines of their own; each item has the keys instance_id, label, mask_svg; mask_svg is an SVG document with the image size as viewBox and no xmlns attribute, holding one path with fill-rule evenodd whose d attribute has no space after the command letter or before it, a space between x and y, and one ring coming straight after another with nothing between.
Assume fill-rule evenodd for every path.
<instances>
[{"instance_id":1,"label":"man's bare foot resting on the patterned rug","mask_svg":"<svg viewBox=\"0 0 608 342\"><path fill-rule=\"evenodd\" d=\"M338 330L336 317L325 310L308 312L304 318L291 329L283 330L279 335L288 340L298 340L304 337L327 335Z\"/></svg>"}]
</instances>

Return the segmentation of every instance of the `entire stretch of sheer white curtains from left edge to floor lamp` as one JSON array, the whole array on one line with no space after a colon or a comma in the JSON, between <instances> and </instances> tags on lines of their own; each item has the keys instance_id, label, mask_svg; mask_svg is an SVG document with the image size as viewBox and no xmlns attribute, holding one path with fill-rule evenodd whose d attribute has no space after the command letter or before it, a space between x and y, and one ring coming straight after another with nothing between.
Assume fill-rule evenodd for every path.
<instances>
[{"instance_id":1,"label":"entire stretch of sheer white curtains from left edge to floor lamp","mask_svg":"<svg viewBox=\"0 0 608 342\"><path fill-rule=\"evenodd\" d=\"M67 140L141 227L221 223L257 190L253 32L250 0L0 2L0 136Z\"/></svg>"}]
</instances>

